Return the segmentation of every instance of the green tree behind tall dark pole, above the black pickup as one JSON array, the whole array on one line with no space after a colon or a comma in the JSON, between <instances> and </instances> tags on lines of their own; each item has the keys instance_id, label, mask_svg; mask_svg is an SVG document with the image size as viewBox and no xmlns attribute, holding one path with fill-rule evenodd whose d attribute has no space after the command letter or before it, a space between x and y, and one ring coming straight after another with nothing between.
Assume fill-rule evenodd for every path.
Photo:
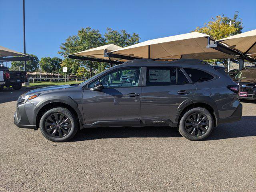
<instances>
[{"instance_id":1,"label":"green tree behind tall dark pole, above the black pickup","mask_svg":"<svg viewBox=\"0 0 256 192\"><path fill-rule=\"evenodd\" d=\"M28 56L31 56L33 58L32 61L27 61L27 71L36 71L39 68L39 59L37 56L33 54L27 54ZM24 61L12 61L10 70L18 71L18 70L24 70Z\"/></svg>"}]
</instances>

